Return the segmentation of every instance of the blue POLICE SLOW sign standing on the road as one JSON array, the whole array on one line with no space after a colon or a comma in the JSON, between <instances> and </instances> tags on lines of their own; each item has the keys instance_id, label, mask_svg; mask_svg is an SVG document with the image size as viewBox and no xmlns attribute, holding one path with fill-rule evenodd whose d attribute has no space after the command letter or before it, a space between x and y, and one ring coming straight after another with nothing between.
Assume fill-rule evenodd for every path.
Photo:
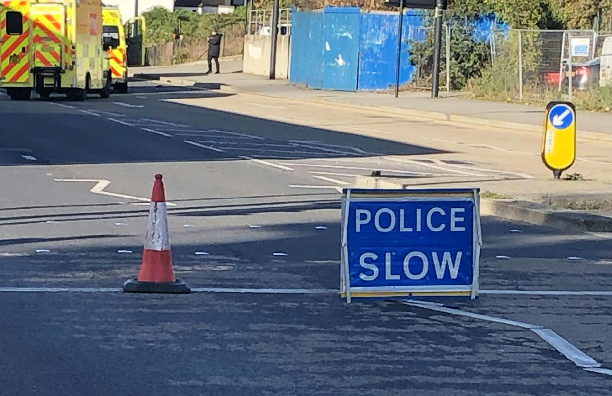
<instances>
[{"instance_id":1,"label":"blue POLICE SLOW sign standing on the road","mask_svg":"<svg viewBox=\"0 0 612 396\"><path fill-rule=\"evenodd\" d=\"M478 292L478 189L346 189L342 296Z\"/></svg>"}]
</instances>

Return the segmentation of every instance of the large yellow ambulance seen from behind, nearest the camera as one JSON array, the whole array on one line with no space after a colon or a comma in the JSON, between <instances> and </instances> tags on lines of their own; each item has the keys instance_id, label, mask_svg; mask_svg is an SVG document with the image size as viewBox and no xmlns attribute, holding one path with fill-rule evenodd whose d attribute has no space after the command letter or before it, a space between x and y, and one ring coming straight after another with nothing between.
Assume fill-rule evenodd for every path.
<instances>
[{"instance_id":1,"label":"large yellow ambulance seen from behind, nearest the camera","mask_svg":"<svg viewBox=\"0 0 612 396\"><path fill-rule=\"evenodd\" d=\"M43 99L110 96L99 0L0 0L0 59L0 87L12 100L29 100L32 89Z\"/></svg>"}]
</instances>

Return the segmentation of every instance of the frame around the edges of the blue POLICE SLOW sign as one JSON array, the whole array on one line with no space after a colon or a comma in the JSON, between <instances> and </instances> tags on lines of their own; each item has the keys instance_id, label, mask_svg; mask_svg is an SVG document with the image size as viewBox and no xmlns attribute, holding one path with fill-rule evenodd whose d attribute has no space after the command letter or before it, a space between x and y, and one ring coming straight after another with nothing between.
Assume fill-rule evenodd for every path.
<instances>
[{"instance_id":1,"label":"frame around the edges of the blue POLICE SLOW sign","mask_svg":"<svg viewBox=\"0 0 612 396\"><path fill-rule=\"evenodd\" d=\"M377 198L378 197L378 198ZM393 197L391 202L473 202L472 216L472 283L468 285L397 285L397 286L351 286L349 271L348 226L351 201L368 200L380 202L385 197ZM359 189L345 188L341 204L341 249L340 249L340 293L351 303L353 298L368 297L467 297L476 299L480 284L480 248L482 246L482 229L480 226L480 190L479 188L458 189Z\"/></svg>"}]
</instances>

